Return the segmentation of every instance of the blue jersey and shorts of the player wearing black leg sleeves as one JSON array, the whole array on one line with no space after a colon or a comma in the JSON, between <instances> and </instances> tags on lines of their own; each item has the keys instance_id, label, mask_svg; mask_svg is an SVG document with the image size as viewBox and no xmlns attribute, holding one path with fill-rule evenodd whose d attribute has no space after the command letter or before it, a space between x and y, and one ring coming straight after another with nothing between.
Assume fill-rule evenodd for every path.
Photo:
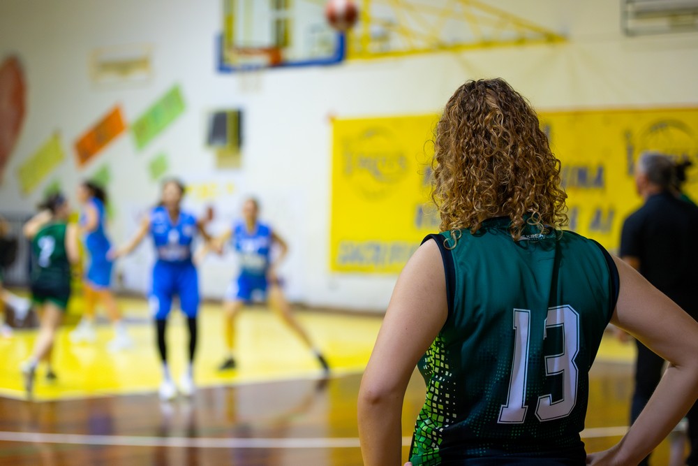
<instances>
[{"instance_id":1,"label":"blue jersey and shorts of the player wearing black leg sleeves","mask_svg":"<svg viewBox=\"0 0 698 466\"><path fill-rule=\"evenodd\" d=\"M193 318L199 309L199 279L191 261L191 244L197 231L195 217L179 212L172 223L165 207L150 213L150 234L157 260L153 267L150 305L156 320L170 314L172 298L179 296L179 305L186 316Z\"/></svg>"}]
</instances>

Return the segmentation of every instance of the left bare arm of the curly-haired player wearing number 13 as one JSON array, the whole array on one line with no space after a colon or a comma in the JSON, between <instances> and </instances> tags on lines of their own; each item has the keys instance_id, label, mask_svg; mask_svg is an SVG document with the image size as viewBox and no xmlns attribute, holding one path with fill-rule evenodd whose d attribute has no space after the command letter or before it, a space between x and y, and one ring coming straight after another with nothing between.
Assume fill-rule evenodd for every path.
<instances>
[{"instance_id":1,"label":"left bare arm of the curly-haired player wearing number 13","mask_svg":"<svg viewBox=\"0 0 698 466\"><path fill-rule=\"evenodd\" d=\"M402 465L401 413L410 376L448 315L443 261L434 241L417 249L395 285L359 389L366 466Z\"/></svg>"}]
</instances>

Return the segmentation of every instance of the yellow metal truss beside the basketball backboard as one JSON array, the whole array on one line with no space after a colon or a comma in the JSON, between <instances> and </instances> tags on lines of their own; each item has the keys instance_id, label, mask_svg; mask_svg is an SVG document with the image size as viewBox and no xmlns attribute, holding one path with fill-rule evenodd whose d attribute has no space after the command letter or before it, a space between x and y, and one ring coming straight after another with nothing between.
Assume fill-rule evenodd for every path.
<instances>
[{"instance_id":1,"label":"yellow metal truss beside the basketball backboard","mask_svg":"<svg viewBox=\"0 0 698 466\"><path fill-rule=\"evenodd\" d=\"M349 59L565 41L477 0L362 0L360 8L360 21L348 35Z\"/></svg>"}]
</instances>

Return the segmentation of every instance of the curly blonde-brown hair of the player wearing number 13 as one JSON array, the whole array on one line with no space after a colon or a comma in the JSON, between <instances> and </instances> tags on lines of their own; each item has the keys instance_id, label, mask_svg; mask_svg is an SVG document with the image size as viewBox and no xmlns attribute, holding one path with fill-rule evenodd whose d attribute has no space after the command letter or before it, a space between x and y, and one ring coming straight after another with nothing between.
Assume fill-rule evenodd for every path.
<instances>
[{"instance_id":1,"label":"curly blonde-brown hair of the player wearing number 13","mask_svg":"<svg viewBox=\"0 0 698 466\"><path fill-rule=\"evenodd\" d=\"M540 231L567 224L560 161L526 99L503 79L468 81L449 99L436 126L431 198L441 231L472 233L496 216Z\"/></svg>"}]
</instances>

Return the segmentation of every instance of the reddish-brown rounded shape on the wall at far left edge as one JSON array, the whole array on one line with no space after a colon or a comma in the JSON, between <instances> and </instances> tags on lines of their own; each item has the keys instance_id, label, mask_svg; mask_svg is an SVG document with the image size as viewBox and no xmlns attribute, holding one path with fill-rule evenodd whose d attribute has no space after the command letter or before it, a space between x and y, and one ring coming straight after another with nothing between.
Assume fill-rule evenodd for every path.
<instances>
[{"instance_id":1,"label":"reddish-brown rounded shape on the wall at far left edge","mask_svg":"<svg viewBox=\"0 0 698 466\"><path fill-rule=\"evenodd\" d=\"M0 183L24 122L27 101L24 71L17 57L0 65Z\"/></svg>"}]
</instances>

